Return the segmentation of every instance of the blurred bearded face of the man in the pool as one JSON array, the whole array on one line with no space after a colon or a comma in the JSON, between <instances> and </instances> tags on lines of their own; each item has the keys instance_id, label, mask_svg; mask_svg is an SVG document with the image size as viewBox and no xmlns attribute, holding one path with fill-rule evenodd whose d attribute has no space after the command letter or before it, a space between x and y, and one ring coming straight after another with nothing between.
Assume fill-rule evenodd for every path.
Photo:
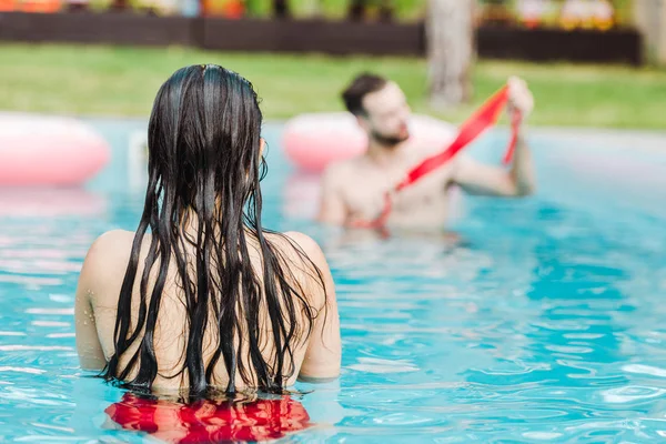
<instances>
[{"instance_id":1,"label":"blurred bearded face of the man in the pool","mask_svg":"<svg viewBox=\"0 0 666 444\"><path fill-rule=\"evenodd\" d=\"M366 115L359 118L361 127L375 141L391 147L410 137L410 105L405 94L394 82L363 98Z\"/></svg>"}]
</instances>

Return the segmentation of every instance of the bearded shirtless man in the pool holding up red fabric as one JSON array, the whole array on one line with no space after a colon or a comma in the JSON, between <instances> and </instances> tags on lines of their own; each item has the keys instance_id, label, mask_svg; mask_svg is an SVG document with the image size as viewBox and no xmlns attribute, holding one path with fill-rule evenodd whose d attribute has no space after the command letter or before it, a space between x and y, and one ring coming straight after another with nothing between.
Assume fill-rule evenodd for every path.
<instances>
[{"instance_id":1,"label":"bearded shirtless man in the pool holding up red fabric","mask_svg":"<svg viewBox=\"0 0 666 444\"><path fill-rule=\"evenodd\" d=\"M534 100L526 83L508 80L509 111L517 109L523 120ZM321 222L354 226L376 219L384 208L386 191L441 147L417 147L410 141L410 107L405 94L392 81L362 74L343 92L347 110L367 133L367 151L355 159L331 165L323 175ZM524 196L534 191L534 171L523 131L518 134L509 171L478 163L458 153L448 163L431 172L412 186L393 195L390 226L443 228L448 215L452 185L475 194Z\"/></svg>"}]
</instances>

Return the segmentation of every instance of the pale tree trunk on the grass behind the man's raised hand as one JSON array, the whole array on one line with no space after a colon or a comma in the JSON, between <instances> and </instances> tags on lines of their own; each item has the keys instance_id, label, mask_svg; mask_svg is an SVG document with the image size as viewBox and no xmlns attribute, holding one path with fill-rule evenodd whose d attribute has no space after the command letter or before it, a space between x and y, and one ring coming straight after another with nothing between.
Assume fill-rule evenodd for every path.
<instances>
[{"instance_id":1,"label":"pale tree trunk on the grass behind the man's raised hand","mask_svg":"<svg viewBox=\"0 0 666 444\"><path fill-rule=\"evenodd\" d=\"M425 20L431 105L452 108L472 95L474 0L428 0Z\"/></svg>"}]
</instances>

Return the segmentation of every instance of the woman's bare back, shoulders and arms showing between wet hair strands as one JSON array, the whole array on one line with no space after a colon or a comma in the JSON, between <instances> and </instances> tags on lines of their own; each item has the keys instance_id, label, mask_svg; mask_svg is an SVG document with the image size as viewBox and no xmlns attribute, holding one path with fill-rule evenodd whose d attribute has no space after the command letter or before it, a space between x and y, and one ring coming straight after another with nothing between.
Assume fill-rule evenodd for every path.
<instances>
[{"instance_id":1,"label":"woman's bare back, shoulders and arms showing between wet hair strands","mask_svg":"<svg viewBox=\"0 0 666 444\"><path fill-rule=\"evenodd\" d=\"M340 372L340 322L337 314L337 304L335 301L335 291L333 280L326 261L319 245L304 234L290 232L285 235L265 234L266 240L278 251L284 266L290 269L290 276L293 282L291 285L303 290L307 304L319 313L313 322L312 332L306 327L301 329L302 334L293 339L291 346L292 355L284 356L285 374L290 374L284 386L292 385L297 376L307 380L329 380L334 379ZM251 236L248 236L251 239ZM121 293L122 282L128 269L133 232L111 231L100 236L91 246L79 282L77 291L77 345L84 369L101 370L114 354L114 329L117 321L117 311L119 295ZM143 266L149 251L151 239L147 234L139 255L137 279L132 290L131 305L131 325L138 324L140 311L140 282L143 274ZM249 241L248 250L255 270L255 276L260 281L259 286L263 285L263 263L262 254L259 250L259 243ZM300 249L302 253L299 253ZM194 252L185 252L195 254ZM305 258L304 258L305 256ZM158 276L158 266L153 265L148 280L147 306L150 304L150 295L155 285ZM315 269L316 268L316 269ZM316 270L321 273L321 280L317 283ZM194 270L190 271L191 273ZM322 287L323 281L323 287ZM184 299L183 283L178 273L174 260L170 261L167 272L167 280L162 297L160 301L159 316L153 331L153 350L158 363L158 375L153 381L155 391L173 391L189 386L188 372L182 371L185 364L185 351L188 347L188 309ZM324 291L325 289L325 291ZM224 295L219 295L224 297ZM284 301L283 301L284 302ZM261 305L259 313L260 336L263 339L260 344L261 354L266 362L275 355L275 344L271 339L272 326L269 311L265 304ZM242 319L244 307L242 304L236 306L238 313ZM304 312L296 311L296 323L304 326L307 319ZM212 304L209 307L208 323L202 341L202 356L204 366L208 367L213 359L218 344L220 342L218 316ZM310 333L310 334L307 334ZM234 339L235 347L239 344L239 336L243 339L243 346L240 350L239 357L245 360L246 369L251 369L249 360L248 332L241 330L236 332ZM131 356L134 355L141 344L143 331L119 360L119 367L123 369ZM133 365L132 371L125 377L132 380L139 365ZM287 372L292 370L292 372ZM245 383L236 370L235 389L243 390L246 385L254 385L256 375L251 375L251 382ZM210 384L220 389L225 389L229 383L229 375L224 360L220 359L213 366ZM252 386L250 389L253 389Z\"/></svg>"}]
</instances>

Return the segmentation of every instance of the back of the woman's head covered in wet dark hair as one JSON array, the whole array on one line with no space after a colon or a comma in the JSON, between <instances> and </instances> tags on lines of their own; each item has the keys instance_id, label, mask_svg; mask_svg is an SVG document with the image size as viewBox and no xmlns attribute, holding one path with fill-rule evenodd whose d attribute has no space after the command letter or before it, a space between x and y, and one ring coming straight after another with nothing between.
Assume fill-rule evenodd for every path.
<instances>
[{"instance_id":1,"label":"back of the woman's head covered in wet dark hair","mask_svg":"<svg viewBox=\"0 0 666 444\"><path fill-rule=\"evenodd\" d=\"M240 208L258 188L262 113L252 84L215 64L175 71L149 123L149 171L184 208L222 198Z\"/></svg>"}]
</instances>

